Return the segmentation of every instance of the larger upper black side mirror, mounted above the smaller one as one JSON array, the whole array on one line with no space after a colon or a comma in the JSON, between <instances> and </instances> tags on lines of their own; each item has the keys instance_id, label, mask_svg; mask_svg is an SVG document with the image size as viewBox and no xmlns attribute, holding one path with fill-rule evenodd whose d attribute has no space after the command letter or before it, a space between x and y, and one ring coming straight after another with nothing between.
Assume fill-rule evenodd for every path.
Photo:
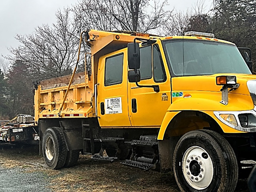
<instances>
[{"instance_id":1,"label":"larger upper black side mirror, mounted above the smaller one","mask_svg":"<svg viewBox=\"0 0 256 192\"><path fill-rule=\"evenodd\" d=\"M131 42L128 44L128 66L129 69L137 70L141 66L141 55L139 54L139 44Z\"/></svg>"}]
</instances>

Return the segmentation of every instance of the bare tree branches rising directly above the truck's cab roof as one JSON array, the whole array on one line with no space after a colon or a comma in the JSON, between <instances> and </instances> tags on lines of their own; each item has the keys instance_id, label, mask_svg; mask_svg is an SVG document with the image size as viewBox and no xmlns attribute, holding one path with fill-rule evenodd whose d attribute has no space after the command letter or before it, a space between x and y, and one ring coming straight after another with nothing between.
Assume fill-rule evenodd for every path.
<instances>
[{"instance_id":1,"label":"bare tree branches rising directly above the truck's cab roof","mask_svg":"<svg viewBox=\"0 0 256 192\"><path fill-rule=\"evenodd\" d=\"M81 0L73 8L80 28L150 32L163 26L171 12L167 0Z\"/></svg>"}]
</instances>

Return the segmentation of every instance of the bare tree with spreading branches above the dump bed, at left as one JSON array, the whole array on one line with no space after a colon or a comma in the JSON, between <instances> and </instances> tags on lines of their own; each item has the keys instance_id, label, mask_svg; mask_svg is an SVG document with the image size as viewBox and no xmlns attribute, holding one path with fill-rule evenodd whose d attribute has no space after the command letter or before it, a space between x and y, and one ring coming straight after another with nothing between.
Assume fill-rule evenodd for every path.
<instances>
[{"instance_id":1,"label":"bare tree with spreading branches above the dump bed, at left","mask_svg":"<svg viewBox=\"0 0 256 192\"><path fill-rule=\"evenodd\" d=\"M31 35L16 35L21 43L10 48L14 56L7 58L28 65L29 72L39 78L51 78L71 73L75 64L78 37L76 23L71 20L70 9L58 10L57 23L43 25Z\"/></svg>"}]
</instances>

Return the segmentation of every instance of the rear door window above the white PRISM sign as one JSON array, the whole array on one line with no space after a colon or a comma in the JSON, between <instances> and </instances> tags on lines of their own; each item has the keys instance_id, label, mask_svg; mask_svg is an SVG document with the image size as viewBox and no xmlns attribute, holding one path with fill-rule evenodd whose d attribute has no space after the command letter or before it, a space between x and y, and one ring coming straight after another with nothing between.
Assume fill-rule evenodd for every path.
<instances>
[{"instance_id":1,"label":"rear door window above the white PRISM sign","mask_svg":"<svg viewBox=\"0 0 256 192\"><path fill-rule=\"evenodd\" d=\"M105 86L120 84L123 80L124 54L106 58Z\"/></svg>"}]
</instances>

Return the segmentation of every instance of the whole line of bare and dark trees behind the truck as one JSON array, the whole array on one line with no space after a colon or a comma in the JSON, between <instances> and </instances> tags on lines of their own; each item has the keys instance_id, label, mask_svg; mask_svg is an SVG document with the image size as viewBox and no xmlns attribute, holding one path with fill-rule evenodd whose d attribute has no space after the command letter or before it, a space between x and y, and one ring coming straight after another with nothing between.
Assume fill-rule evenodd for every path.
<instances>
[{"instance_id":1,"label":"whole line of bare and dark trees behind the truck","mask_svg":"<svg viewBox=\"0 0 256 192\"><path fill-rule=\"evenodd\" d=\"M37 27L33 34L17 34L20 46L9 48L11 54L0 59L0 119L21 113L33 115L32 81L70 74L79 36L85 29L164 36L184 35L190 30L214 33L216 38L234 42L237 47L251 48L255 63L256 2L213 0L212 3L207 13L202 0L185 13L168 10L167 0L78 0L72 7L58 10L56 23ZM89 51L85 44L82 49ZM84 70L83 58L78 69Z\"/></svg>"}]
</instances>

